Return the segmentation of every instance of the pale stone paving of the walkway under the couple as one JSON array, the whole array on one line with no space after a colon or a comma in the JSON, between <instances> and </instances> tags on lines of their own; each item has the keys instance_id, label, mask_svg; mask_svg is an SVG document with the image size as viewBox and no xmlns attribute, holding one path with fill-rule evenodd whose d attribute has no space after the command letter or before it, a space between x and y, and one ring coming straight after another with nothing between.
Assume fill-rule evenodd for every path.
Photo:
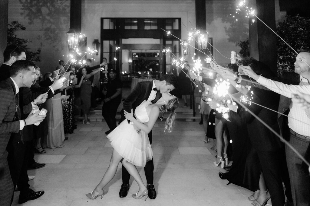
<instances>
[{"instance_id":1,"label":"pale stone paving of the walkway under the couple","mask_svg":"<svg viewBox=\"0 0 310 206\"><path fill-rule=\"evenodd\" d=\"M35 155L39 163L46 166L28 170L35 179L29 181L35 191L45 194L24 205L212 205L250 206L247 197L251 191L219 179L215 167L215 153L210 152L212 141L204 144L204 132L198 122L177 121L174 130L165 134L164 122L157 121L153 129L155 200L135 200L130 194L138 191L131 178L131 188L125 198L119 198L122 184L121 164L114 179L104 188L103 199L90 200L91 192L108 167L112 147L104 134L108 130L105 122L83 125L69 134L64 147L46 149L47 153ZM143 168L138 168L144 182ZM18 192L14 193L13 205L17 205Z\"/></svg>"}]
</instances>

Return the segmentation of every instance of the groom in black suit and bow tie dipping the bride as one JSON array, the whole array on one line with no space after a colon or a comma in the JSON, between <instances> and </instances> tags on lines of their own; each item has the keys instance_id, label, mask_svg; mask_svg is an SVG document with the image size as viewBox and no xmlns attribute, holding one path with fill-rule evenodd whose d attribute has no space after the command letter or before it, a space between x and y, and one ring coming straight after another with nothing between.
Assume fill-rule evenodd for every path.
<instances>
[{"instance_id":1,"label":"groom in black suit and bow tie dipping the bride","mask_svg":"<svg viewBox=\"0 0 310 206\"><path fill-rule=\"evenodd\" d=\"M177 87L176 77L173 74L164 74L159 80L153 80L152 82L143 81L138 82L135 88L132 90L130 95L125 99L123 103L123 109L121 111L121 120L119 124L125 120L124 110L127 112L135 112L135 108L138 107L144 100L151 101L152 104L156 103L158 99L161 98L162 93L170 93ZM128 120L129 123L129 120ZM137 131L139 133L139 131ZM148 133L148 139L152 145L152 131ZM153 185L153 173L154 173L154 163L153 159L146 162L144 167L144 173L146 181L148 183L148 197L150 199L156 198L156 191ZM129 179L130 174L122 166L122 187L119 191L119 197L126 197L129 190Z\"/></svg>"}]
</instances>

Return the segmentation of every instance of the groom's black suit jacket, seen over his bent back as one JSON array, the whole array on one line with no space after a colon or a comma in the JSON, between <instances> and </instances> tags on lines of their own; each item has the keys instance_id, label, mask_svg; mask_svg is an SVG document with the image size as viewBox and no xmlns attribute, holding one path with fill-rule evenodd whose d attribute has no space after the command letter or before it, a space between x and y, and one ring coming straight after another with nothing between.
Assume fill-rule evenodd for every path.
<instances>
[{"instance_id":1,"label":"groom's black suit jacket, seen over his bent back","mask_svg":"<svg viewBox=\"0 0 310 206\"><path fill-rule=\"evenodd\" d=\"M132 90L130 95L125 99L123 103L123 109L121 110L121 119L118 124L121 124L122 121L125 120L124 110L127 112L135 112L135 108L137 108L144 100L148 100L149 95L151 94L153 87L153 81L143 81L138 82L135 88Z\"/></svg>"}]
</instances>

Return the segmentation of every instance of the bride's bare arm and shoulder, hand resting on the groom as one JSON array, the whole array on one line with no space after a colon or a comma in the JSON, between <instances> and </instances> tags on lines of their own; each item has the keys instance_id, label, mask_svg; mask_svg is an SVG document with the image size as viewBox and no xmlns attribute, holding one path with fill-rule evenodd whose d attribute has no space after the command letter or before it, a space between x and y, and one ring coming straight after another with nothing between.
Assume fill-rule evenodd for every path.
<instances>
[{"instance_id":1,"label":"bride's bare arm and shoulder, hand resting on the groom","mask_svg":"<svg viewBox=\"0 0 310 206\"><path fill-rule=\"evenodd\" d=\"M136 120L135 118L130 118L128 114L128 112L124 111L125 112L125 116L126 116L126 119L129 119L131 120L135 126L139 129L141 129L142 131L146 132L147 134L151 132L151 130L153 129L154 127L154 124L158 118L158 115L159 115L159 107L152 107L151 111L150 111L150 116L148 118L148 123L147 124L144 124L144 123L141 123L139 122L138 120ZM131 115L130 115L131 116ZM129 118L128 118L129 117Z\"/></svg>"}]
</instances>

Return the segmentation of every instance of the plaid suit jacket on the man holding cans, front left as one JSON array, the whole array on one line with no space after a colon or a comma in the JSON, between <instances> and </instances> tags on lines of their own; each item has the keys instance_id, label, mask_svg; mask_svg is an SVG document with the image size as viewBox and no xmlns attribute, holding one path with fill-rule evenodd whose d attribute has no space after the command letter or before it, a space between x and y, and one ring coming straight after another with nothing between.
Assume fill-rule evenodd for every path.
<instances>
[{"instance_id":1,"label":"plaid suit jacket on the man holding cans, front left","mask_svg":"<svg viewBox=\"0 0 310 206\"><path fill-rule=\"evenodd\" d=\"M11 133L20 131L20 122L14 121L16 111L15 85L11 78L0 82L0 158L7 157L7 143Z\"/></svg>"}]
</instances>

